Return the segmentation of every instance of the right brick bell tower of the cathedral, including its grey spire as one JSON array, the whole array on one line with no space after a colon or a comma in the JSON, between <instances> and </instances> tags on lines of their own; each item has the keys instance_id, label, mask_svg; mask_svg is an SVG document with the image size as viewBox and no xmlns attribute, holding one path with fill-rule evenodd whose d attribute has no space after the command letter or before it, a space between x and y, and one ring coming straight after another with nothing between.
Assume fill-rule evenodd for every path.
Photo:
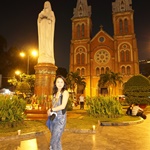
<instances>
[{"instance_id":1,"label":"right brick bell tower of the cathedral, including its grey spire","mask_svg":"<svg viewBox=\"0 0 150 150\"><path fill-rule=\"evenodd\" d=\"M133 75L139 74L137 40L134 32L132 0L116 0L112 3L115 72L123 75L126 82Z\"/></svg>"}]
</instances>

